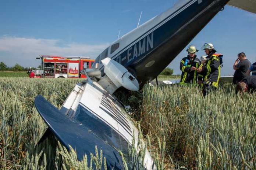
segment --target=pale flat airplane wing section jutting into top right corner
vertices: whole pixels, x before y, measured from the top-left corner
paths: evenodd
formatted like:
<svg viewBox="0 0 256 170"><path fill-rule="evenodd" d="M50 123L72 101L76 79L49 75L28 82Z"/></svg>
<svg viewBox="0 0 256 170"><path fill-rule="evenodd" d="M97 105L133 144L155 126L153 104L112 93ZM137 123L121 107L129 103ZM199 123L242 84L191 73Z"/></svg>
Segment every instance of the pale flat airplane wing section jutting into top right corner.
<svg viewBox="0 0 256 170"><path fill-rule="evenodd" d="M228 5L256 14L256 0L230 0Z"/></svg>

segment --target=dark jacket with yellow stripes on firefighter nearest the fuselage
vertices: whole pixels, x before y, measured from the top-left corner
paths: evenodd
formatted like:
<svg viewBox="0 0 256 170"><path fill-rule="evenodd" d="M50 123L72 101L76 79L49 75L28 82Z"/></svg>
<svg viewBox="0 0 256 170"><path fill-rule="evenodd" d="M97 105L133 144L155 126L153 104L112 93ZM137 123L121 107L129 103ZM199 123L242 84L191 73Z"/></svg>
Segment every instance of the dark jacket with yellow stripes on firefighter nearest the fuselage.
<svg viewBox="0 0 256 170"><path fill-rule="evenodd" d="M189 56L183 58L179 64L179 69L182 71L180 84L196 84L198 82L197 71L191 71L191 67L196 67L198 69L200 64L201 62L198 58L196 58L196 55L193 59L191 59Z"/></svg>

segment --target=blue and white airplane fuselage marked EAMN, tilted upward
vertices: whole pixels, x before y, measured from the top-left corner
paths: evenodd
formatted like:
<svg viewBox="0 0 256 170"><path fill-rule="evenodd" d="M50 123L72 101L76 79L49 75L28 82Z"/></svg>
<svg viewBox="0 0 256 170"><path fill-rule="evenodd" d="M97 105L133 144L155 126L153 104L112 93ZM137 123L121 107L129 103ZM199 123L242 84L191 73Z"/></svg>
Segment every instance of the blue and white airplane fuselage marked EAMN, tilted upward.
<svg viewBox="0 0 256 170"><path fill-rule="evenodd" d="M140 84L153 80L228 1L180 0L114 41L96 58L93 67L98 65L104 74L100 61L109 57L125 66Z"/></svg>

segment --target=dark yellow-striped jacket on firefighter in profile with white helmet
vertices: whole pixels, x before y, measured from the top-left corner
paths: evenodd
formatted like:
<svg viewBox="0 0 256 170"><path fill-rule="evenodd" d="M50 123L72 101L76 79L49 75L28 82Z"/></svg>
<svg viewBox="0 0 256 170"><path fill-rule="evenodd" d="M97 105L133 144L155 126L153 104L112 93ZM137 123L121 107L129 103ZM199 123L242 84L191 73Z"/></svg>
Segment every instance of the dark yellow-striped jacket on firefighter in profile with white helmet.
<svg viewBox="0 0 256 170"><path fill-rule="evenodd" d="M218 82L220 80L220 57L221 54L210 54L207 56L206 65L203 67L203 73L206 74L205 80L211 82L211 86L218 88Z"/></svg>

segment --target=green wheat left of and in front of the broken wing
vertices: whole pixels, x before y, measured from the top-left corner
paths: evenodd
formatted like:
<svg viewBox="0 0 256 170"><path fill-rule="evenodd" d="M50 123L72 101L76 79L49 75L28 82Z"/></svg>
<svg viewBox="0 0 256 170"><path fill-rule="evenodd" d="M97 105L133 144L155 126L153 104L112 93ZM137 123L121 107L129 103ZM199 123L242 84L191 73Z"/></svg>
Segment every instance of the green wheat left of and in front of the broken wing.
<svg viewBox="0 0 256 170"><path fill-rule="evenodd" d="M43 95L54 106L60 107L79 81L82 79L0 78L1 170L91 170L92 167L96 170L106 170L102 151L97 147L95 153L85 155L79 162L74 149L68 152L53 136L37 145L47 126L35 109L33 101L36 95ZM139 155L142 159L145 146L141 143L136 146L141 148ZM149 146L149 148L151 147ZM154 147L154 149L156 148ZM129 156L133 162L129 162L124 156L124 167L132 169L134 166L141 166L135 146L130 149ZM163 149L156 152L157 156L155 157L159 161L164 159L162 152ZM154 153L152 151L152 154ZM158 166L163 169L163 164L159 161Z"/></svg>

